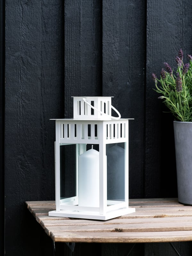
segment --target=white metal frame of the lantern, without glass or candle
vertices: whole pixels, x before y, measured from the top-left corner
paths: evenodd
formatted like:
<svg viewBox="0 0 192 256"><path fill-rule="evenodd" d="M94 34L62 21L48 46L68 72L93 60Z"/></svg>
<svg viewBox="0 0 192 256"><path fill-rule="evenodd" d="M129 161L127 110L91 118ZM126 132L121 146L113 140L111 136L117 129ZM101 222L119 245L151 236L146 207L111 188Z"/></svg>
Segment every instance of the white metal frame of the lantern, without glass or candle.
<svg viewBox="0 0 192 256"><path fill-rule="evenodd" d="M90 98L90 99L89 99ZM129 208L129 119L111 118L111 97L74 97L74 116L55 120L55 199L56 210L49 216L108 220L135 212ZM95 103L95 101L97 101ZM99 102L99 103L98 103ZM88 104L87 104L88 103ZM98 104L97 104L98 103ZM105 103L105 107L103 105ZM90 104L90 106L89 106ZM88 106L88 108L86 107ZM98 107L100 106L100 108ZM91 108L99 111L92 111ZM97 113L96 113L97 112ZM97 119L91 119L94 114ZM88 117L88 118L86 118ZM95 117L94 117L95 118ZM100 118L100 119L98 119ZM106 119L106 120L102 120ZM124 201L107 199L106 145L124 142ZM60 197L60 146L76 145L76 196ZM99 145L99 207L78 205L78 156L86 144Z"/></svg>

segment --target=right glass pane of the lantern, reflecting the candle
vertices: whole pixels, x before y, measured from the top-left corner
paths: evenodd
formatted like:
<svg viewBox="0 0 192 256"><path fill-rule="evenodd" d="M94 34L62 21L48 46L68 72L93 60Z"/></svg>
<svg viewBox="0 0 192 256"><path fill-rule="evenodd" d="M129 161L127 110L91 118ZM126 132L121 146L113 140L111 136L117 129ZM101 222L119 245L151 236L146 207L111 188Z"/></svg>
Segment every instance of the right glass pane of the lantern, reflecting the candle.
<svg viewBox="0 0 192 256"><path fill-rule="evenodd" d="M106 145L107 200L125 201L125 143Z"/></svg>

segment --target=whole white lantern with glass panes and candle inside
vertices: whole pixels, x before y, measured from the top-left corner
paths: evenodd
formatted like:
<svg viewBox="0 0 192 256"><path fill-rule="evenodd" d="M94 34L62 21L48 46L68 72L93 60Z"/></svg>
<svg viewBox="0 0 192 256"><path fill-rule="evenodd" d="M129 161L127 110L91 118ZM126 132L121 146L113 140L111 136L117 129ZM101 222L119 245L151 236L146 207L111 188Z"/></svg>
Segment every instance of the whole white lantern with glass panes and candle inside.
<svg viewBox="0 0 192 256"><path fill-rule="evenodd" d="M73 107L73 119L52 119L56 210L49 216L108 220L135 212L128 205L129 119L111 97L73 97Z"/></svg>

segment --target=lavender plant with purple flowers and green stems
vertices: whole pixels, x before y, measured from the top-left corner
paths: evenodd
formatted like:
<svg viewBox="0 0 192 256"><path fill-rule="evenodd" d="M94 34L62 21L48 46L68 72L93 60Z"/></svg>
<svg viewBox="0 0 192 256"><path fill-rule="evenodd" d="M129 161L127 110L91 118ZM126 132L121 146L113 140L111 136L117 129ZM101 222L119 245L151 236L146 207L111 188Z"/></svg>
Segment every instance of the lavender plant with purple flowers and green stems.
<svg viewBox="0 0 192 256"><path fill-rule="evenodd" d="M192 56L187 55L189 63L183 63L183 52L180 49L175 60L176 73L170 65L164 62L160 79L153 73L156 92L162 94L158 99L164 100L164 104L177 121L192 122ZM160 84L160 85L159 85Z"/></svg>

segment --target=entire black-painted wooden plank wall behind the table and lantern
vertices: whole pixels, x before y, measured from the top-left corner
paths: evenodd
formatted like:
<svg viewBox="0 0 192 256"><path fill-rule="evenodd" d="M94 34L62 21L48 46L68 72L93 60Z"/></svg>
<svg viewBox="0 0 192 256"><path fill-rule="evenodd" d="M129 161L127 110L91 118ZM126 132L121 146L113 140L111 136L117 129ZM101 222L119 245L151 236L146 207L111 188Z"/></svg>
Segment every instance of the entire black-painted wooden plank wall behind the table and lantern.
<svg viewBox="0 0 192 256"><path fill-rule="evenodd" d="M54 200L54 122L71 96L114 96L130 122L130 198L177 197L173 118L151 73L192 54L190 0L1 0L1 255L53 255L25 201ZM5 212L3 211L5 206ZM4 227L4 232L3 232ZM3 242L5 241L5 243ZM5 244L5 246L3 246ZM57 255L70 255L57 244ZM191 255L191 243L175 243ZM132 244L76 244L73 255L128 255ZM132 255L176 255L136 244Z"/></svg>

